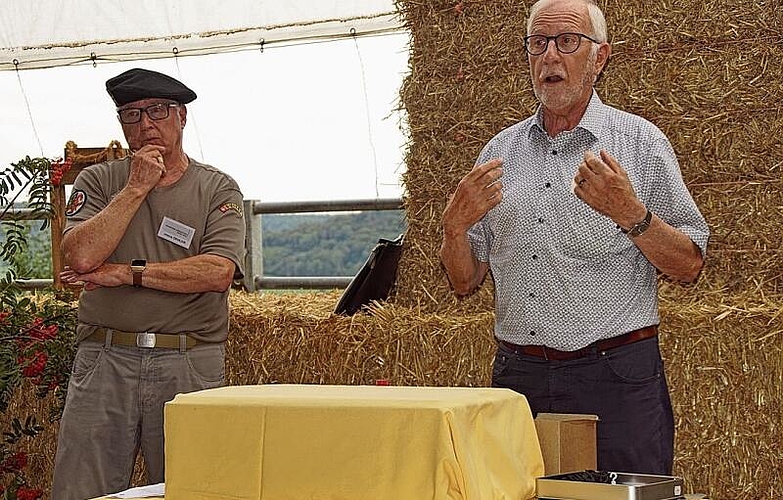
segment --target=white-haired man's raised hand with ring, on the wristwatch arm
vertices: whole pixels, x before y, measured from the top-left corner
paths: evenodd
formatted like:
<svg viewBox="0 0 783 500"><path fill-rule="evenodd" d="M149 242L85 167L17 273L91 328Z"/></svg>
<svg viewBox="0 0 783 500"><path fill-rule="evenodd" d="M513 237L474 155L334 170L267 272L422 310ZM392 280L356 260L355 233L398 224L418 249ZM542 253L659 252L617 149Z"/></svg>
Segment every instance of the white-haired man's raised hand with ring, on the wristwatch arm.
<svg viewBox="0 0 783 500"><path fill-rule="evenodd" d="M625 229L642 220L647 209L636 197L628 173L605 150L585 151L574 177L574 194Z"/></svg>

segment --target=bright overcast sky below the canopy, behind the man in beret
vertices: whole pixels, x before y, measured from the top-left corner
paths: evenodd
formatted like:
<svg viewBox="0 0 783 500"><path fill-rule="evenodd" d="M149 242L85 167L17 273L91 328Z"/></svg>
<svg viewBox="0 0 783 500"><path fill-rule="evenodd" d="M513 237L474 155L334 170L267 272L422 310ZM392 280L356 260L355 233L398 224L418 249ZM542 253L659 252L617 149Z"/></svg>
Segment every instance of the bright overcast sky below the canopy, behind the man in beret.
<svg viewBox="0 0 783 500"><path fill-rule="evenodd" d="M55 158L68 140L125 145L105 81L144 67L198 94L188 105L185 150L233 176L245 199L398 197L405 139L394 110L407 63L408 35L399 33L263 53L0 72L0 161L5 168L26 155Z"/></svg>

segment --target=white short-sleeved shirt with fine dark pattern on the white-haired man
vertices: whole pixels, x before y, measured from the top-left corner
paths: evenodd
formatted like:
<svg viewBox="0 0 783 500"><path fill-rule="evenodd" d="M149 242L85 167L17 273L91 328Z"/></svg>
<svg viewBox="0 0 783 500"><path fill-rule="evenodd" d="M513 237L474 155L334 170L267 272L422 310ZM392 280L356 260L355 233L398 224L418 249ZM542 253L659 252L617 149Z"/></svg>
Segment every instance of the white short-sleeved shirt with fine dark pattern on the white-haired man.
<svg viewBox="0 0 783 500"><path fill-rule="evenodd" d="M655 125L593 92L579 125L551 138L539 108L496 135L477 161L503 159L503 201L468 232L495 280L501 340L570 351L659 323L655 267L571 192L587 149L614 156L647 208L706 252L707 223Z"/></svg>

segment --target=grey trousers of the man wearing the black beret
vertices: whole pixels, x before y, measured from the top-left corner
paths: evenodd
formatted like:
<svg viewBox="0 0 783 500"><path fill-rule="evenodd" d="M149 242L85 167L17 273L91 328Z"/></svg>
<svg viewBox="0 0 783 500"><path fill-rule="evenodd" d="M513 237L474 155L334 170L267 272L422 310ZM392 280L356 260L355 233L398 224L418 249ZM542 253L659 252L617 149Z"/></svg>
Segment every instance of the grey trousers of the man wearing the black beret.
<svg viewBox="0 0 783 500"><path fill-rule="evenodd" d="M51 499L127 489L139 450L149 482L163 482L164 403L222 386L224 378L222 343L180 351L81 342L60 421Z"/></svg>

